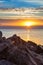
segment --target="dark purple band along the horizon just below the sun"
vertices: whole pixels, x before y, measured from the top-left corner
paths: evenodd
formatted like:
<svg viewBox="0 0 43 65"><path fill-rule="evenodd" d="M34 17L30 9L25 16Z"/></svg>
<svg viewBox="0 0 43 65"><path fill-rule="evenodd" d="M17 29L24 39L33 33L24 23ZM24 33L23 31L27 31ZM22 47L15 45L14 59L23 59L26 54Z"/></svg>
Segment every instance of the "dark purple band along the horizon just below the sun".
<svg viewBox="0 0 43 65"><path fill-rule="evenodd" d="M27 29L27 26L0 26L0 29ZM43 26L31 26L28 29L43 29Z"/></svg>

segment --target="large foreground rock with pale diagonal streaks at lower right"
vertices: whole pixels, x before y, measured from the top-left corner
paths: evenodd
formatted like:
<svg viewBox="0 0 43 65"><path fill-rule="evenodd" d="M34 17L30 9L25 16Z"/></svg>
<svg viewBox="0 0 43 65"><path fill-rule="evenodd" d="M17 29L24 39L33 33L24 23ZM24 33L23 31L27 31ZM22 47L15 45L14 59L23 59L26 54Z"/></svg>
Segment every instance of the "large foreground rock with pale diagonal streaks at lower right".
<svg viewBox="0 0 43 65"><path fill-rule="evenodd" d="M29 50L27 47L25 47L25 50L16 48L10 51L7 60L17 65L43 65L43 56Z"/></svg>

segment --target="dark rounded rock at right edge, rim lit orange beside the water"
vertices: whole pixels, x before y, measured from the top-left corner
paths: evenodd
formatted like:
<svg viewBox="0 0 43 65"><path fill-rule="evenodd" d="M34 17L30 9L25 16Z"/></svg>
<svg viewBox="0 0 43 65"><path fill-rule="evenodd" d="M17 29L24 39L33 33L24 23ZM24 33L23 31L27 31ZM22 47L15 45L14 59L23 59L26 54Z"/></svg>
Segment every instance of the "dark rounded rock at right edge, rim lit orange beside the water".
<svg viewBox="0 0 43 65"><path fill-rule="evenodd" d="M43 53L41 47L32 41L28 41L26 46L37 54Z"/></svg>

